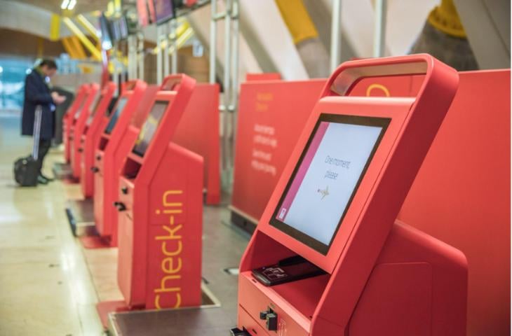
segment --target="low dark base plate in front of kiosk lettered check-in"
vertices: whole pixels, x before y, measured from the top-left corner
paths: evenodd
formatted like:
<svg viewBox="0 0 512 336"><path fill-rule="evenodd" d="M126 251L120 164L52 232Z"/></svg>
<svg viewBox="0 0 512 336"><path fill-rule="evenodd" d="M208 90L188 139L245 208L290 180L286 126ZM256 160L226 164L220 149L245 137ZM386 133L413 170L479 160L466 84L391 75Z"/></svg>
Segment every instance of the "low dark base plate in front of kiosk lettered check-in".
<svg viewBox="0 0 512 336"><path fill-rule="evenodd" d="M200 307L159 310L130 309L124 301L105 301L96 304L96 310L100 315L103 328L109 329L111 335L170 335L170 330L173 332L179 331L180 335L191 335L187 331L198 330L196 325L198 319L204 320L203 322L206 323L216 320L217 317L215 316L223 314L219 309L206 309L218 308L220 302L206 287L205 283L201 284L201 300ZM210 314L208 312L203 313L204 310L215 310L215 312L213 316L209 317ZM137 322L133 323L134 321ZM154 330L155 326L158 330ZM226 330L224 324L222 327L218 330ZM190 329L187 330L186 328ZM151 330L151 332L148 333L148 330ZM159 334L159 331L162 333ZM201 332L205 331L201 329ZM197 335L208 334L198 333Z"/></svg>

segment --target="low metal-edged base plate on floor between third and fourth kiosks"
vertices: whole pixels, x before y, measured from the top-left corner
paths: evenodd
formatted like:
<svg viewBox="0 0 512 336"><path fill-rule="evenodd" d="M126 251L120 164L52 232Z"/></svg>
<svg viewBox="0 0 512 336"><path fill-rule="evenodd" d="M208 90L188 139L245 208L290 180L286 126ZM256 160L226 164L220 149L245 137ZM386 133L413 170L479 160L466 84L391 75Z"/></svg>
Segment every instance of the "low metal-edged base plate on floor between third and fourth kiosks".
<svg viewBox="0 0 512 336"><path fill-rule="evenodd" d="M97 235L94 225L93 200L69 200L66 214L75 237Z"/></svg>

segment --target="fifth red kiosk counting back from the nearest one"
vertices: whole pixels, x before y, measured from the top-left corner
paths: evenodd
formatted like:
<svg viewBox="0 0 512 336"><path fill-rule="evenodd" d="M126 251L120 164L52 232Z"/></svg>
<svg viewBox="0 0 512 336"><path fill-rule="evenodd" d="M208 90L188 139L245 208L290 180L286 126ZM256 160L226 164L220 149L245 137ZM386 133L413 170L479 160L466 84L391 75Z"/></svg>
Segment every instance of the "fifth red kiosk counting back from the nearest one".
<svg viewBox="0 0 512 336"><path fill-rule="evenodd" d="M80 162L82 157L83 148L81 146L81 140L83 130L86 128L86 121L91 113L91 107L95 105L97 101L98 91L100 85L93 83L90 84L86 99L83 100L83 104L79 111L76 111L74 116L74 124L71 127L71 168L74 179L80 178Z"/></svg>

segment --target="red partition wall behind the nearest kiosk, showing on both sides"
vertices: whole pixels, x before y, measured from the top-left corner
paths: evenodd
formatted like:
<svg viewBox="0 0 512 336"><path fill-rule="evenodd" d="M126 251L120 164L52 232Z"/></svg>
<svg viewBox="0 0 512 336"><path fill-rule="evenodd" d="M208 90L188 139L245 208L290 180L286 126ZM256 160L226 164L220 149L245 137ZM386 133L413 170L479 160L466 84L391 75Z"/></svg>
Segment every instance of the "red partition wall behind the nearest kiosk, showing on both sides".
<svg viewBox="0 0 512 336"><path fill-rule="evenodd" d="M454 102L398 218L458 248L468 258L468 335L508 335L511 330L510 70L469 71L459 76ZM351 94L412 96L419 90L421 80L421 76L365 78ZM303 92L295 97L293 85L293 82L242 85L238 129L245 130L245 134L237 133L232 204L252 218L260 218L277 178L250 168L250 155L245 154L250 153L253 145L247 130L259 120L269 120L269 125L279 127L271 118L261 118L280 113L284 116L290 110L269 104L268 113L257 113L256 105L247 102L255 102L256 95L267 88L277 90L274 87L280 90L276 99L288 100L289 104L294 104L295 99L312 101L318 96L315 82L310 84L309 96ZM301 127L278 130L286 132L283 137L292 137ZM272 160L287 160L293 146L290 142L280 141L276 151L281 155L273 155ZM281 166L277 170L278 176L282 169Z"/></svg>

